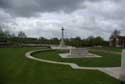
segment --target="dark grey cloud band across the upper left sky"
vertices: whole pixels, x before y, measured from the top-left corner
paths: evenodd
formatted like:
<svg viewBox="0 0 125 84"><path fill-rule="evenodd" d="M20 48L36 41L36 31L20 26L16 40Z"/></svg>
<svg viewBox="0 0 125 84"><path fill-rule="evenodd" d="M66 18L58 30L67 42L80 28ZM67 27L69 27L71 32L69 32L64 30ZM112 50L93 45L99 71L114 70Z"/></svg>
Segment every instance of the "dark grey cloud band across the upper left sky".
<svg viewBox="0 0 125 84"><path fill-rule="evenodd" d="M72 11L83 0L0 0L0 7L12 15L30 16L36 12Z"/></svg>

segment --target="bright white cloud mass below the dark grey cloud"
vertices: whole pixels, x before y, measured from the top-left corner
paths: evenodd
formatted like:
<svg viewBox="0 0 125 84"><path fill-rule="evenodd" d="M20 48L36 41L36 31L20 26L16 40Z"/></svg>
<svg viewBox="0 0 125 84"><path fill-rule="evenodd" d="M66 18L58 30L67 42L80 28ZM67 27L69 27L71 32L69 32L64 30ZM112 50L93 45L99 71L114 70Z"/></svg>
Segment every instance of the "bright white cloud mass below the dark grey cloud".
<svg viewBox="0 0 125 84"><path fill-rule="evenodd" d="M115 0L96 2L88 0L81 3L79 9L70 13L60 10L58 12L39 12L37 16L32 17L11 17L0 11L0 15L5 16L2 18L11 18L12 21L5 24L12 32L24 31L32 37L60 37L60 29L64 26L65 37L86 38L90 35L100 35L108 39L114 29L125 30L123 4L125 3ZM123 18L120 19L121 17ZM125 32L122 31L123 33Z"/></svg>

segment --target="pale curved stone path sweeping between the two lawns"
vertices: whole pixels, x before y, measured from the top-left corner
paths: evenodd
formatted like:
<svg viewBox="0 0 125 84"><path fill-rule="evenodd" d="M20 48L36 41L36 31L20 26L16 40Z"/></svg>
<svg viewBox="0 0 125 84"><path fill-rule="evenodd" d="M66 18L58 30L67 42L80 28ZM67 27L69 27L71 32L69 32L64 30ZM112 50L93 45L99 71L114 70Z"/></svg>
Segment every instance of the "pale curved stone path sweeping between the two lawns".
<svg viewBox="0 0 125 84"><path fill-rule="evenodd" d="M104 72L116 79L119 79L119 73L116 73L116 71L120 71L120 67L81 67L75 63L69 63L69 62L57 62L57 61L52 61L52 60L45 60L45 59L41 59L41 58L36 58L33 57L32 55L38 52L44 52L44 51L52 51L51 49L48 50L33 50L33 51L29 51L25 54L25 56L28 59L32 59L32 60L36 60L39 62L45 62L45 63L51 63L51 64L60 64L60 65L68 65L70 66L72 69L84 69L84 70L99 70L101 72Z"/></svg>

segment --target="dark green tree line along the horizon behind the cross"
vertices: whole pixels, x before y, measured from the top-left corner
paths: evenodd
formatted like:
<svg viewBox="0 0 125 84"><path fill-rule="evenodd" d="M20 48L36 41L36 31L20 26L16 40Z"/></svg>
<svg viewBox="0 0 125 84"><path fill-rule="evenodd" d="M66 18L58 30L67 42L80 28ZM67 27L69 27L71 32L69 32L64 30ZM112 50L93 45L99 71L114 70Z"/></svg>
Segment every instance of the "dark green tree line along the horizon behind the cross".
<svg viewBox="0 0 125 84"><path fill-rule="evenodd" d="M47 39L45 37L39 38L30 38L27 35L20 31L18 35L10 33L9 31L3 31L0 28L0 44L8 45L8 46L20 46L21 44L50 44L50 45L58 45L60 43L60 39L51 38ZM90 36L86 39L81 39L80 37L75 38L66 38L65 44L76 47L84 47L84 46L108 46L108 41L105 41L102 37Z"/></svg>

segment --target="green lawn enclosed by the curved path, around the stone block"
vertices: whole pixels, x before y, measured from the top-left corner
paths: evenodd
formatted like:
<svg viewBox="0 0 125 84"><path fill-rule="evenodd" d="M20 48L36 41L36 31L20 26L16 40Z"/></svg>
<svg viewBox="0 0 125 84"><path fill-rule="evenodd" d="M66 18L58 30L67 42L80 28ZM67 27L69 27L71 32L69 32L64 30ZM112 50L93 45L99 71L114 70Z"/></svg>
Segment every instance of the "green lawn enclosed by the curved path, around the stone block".
<svg viewBox="0 0 125 84"><path fill-rule="evenodd" d="M38 58L49 59L61 62L72 62L80 66L86 67L119 67L121 65L120 49L110 48L98 48L91 49L90 52L102 56L101 58L61 58L58 56L63 51L49 51L44 53L38 53L35 56ZM115 52L115 53L114 53ZM119 52L118 54L116 52Z"/></svg>

